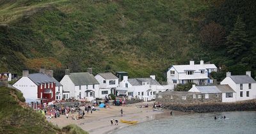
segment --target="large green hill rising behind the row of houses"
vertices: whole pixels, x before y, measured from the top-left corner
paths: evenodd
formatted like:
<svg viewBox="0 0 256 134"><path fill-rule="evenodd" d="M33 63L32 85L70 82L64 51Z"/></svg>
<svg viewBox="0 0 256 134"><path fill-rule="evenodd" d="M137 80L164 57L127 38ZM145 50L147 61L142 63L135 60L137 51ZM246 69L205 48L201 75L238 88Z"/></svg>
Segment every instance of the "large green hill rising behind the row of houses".
<svg viewBox="0 0 256 134"><path fill-rule="evenodd" d="M228 18L229 22L222 19L233 9L243 12L244 7L253 4L228 0L0 1L0 71L21 73L23 69L37 71L44 66L54 70L60 79L67 66L73 72L93 67L93 73L128 71L129 77L154 73L161 81L171 64L203 59L244 73L255 69L255 60L243 59L246 55L237 60L228 57L225 41L221 42L222 48L209 48L200 32L211 21L234 27L236 18ZM237 13L233 14L236 17ZM239 14L249 19L246 25L256 26L252 21L255 12ZM253 29L247 29L250 37L255 36ZM225 29L225 33L231 30ZM250 54L253 57L256 53ZM237 70L241 66L246 68Z"/></svg>

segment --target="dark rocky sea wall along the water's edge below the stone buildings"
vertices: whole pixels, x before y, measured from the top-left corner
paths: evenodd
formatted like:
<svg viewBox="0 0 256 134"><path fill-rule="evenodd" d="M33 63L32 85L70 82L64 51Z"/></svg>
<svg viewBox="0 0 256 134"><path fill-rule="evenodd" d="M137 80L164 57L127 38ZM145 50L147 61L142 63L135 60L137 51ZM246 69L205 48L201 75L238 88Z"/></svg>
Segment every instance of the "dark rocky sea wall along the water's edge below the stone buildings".
<svg viewBox="0 0 256 134"><path fill-rule="evenodd" d="M182 112L226 112L256 110L256 100L239 101L234 103L196 103L196 104L164 104L164 108Z"/></svg>

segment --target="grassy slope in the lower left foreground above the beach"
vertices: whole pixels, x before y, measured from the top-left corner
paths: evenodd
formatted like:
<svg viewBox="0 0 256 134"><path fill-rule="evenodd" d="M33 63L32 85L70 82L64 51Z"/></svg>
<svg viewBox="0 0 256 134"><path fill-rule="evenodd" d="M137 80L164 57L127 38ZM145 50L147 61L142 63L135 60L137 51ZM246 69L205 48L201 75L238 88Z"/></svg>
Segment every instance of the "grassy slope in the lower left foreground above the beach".
<svg viewBox="0 0 256 134"><path fill-rule="evenodd" d="M60 128L48 123L45 117L26 107L22 93L0 87L0 133L85 133L75 125Z"/></svg>

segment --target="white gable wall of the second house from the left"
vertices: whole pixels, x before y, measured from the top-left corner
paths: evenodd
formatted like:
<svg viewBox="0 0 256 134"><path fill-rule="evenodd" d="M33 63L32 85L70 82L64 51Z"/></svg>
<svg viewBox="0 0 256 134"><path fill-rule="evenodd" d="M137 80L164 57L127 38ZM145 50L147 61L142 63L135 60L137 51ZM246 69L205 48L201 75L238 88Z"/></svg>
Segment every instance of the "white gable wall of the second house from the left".
<svg viewBox="0 0 256 134"><path fill-rule="evenodd" d="M75 85L68 75L65 75L60 84L63 85L63 91L69 91L69 98L75 97Z"/></svg>

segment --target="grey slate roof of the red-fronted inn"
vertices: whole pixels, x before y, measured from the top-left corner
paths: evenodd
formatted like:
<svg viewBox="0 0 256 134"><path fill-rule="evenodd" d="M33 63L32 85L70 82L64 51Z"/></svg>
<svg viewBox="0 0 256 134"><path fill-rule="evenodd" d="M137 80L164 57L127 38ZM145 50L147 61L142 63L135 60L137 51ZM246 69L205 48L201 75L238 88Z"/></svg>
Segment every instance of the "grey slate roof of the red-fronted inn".
<svg viewBox="0 0 256 134"><path fill-rule="evenodd" d="M44 83L54 82L52 77L49 77L44 73L31 73L28 75L28 78L32 80L37 86L40 86L40 84Z"/></svg>

